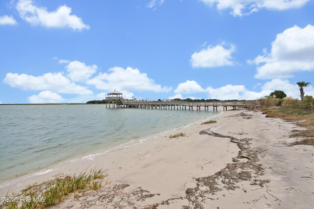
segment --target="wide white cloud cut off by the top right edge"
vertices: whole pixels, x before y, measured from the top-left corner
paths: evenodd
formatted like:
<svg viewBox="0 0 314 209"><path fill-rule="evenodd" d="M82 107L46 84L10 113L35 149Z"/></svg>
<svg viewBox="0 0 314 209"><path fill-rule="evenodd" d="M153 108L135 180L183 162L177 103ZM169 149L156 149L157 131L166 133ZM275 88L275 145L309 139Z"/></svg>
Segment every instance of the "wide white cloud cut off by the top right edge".
<svg viewBox="0 0 314 209"><path fill-rule="evenodd" d="M233 16L248 15L259 9L287 10L300 8L310 0L202 0L209 6L216 5L218 10L232 9Z"/></svg>

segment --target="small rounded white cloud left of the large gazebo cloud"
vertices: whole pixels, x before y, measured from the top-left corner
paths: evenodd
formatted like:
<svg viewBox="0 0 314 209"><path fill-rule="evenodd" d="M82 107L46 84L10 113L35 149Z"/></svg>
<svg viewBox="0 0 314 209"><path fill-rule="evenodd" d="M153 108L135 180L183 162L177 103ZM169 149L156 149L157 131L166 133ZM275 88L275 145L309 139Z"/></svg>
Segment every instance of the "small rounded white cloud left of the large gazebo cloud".
<svg viewBox="0 0 314 209"><path fill-rule="evenodd" d="M85 81L96 72L97 66L86 66L85 63L75 60L70 62L65 69L69 72L67 76L73 81Z"/></svg>

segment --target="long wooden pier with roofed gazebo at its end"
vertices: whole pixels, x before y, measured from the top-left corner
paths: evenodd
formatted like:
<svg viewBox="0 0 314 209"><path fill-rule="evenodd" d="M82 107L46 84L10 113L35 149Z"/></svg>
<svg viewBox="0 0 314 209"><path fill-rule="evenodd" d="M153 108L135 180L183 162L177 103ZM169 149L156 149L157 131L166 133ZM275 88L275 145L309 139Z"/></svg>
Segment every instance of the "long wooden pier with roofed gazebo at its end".
<svg viewBox="0 0 314 209"><path fill-rule="evenodd" d="M241 108L254 108L254 101L219 101L219 102L186 102L186 101L130 101L125 100L122 97L122 93L111 92L108 93L108 97L105 97L105 104L112 106L113 108L141 108L141 109L171 109L171 110L195 110L201 111L201 108L205 111L209 111L209 108L213 108L213 111L217 111L218 107L223 107L223 110L232 108L235 110L238 107ZM112 105L110 105L112 104Z"/></svg>

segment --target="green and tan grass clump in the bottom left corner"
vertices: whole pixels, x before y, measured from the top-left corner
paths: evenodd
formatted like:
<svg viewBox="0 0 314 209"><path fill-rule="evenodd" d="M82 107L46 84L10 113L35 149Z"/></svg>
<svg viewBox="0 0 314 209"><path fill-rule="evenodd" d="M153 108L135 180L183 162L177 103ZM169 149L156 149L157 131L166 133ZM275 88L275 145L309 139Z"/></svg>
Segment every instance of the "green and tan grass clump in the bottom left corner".
<svg viewBox="0 0 314 209"><path fill-rule="evenodd" d="M87 169L79 174L56 177L54 180L41 184L26 186L19 194L12 197L23 197L28 201L11 201L3 203L0 208L7 209L45 209L61 203L70 194L74 197L83 196L88 190L97 190L107 176L103 169ZM110 183L110 182L109 182ZM106 181L105 184L108 184ZM6 195L9 197L8 195Z"/></svg>

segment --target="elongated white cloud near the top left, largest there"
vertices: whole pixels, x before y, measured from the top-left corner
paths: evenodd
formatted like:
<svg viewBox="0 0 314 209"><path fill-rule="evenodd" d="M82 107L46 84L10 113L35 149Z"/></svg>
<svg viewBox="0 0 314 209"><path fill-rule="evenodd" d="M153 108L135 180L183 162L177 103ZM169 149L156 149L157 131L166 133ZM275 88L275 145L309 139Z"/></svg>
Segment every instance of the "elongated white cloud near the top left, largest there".
<svg viewBox="0 0 314 209"><path fill-rule="evenodd" d="M68 27L78 31L90 28L80 18L71 15L72 9L66 5L60 5L55 11L50 12L45 7L34 5L32 0L19 0L16 9L22 19L33 25L55 28Z"/></svg>

